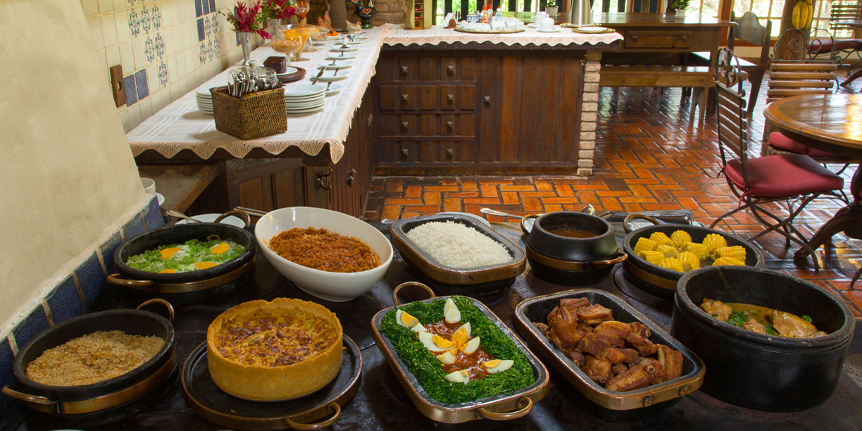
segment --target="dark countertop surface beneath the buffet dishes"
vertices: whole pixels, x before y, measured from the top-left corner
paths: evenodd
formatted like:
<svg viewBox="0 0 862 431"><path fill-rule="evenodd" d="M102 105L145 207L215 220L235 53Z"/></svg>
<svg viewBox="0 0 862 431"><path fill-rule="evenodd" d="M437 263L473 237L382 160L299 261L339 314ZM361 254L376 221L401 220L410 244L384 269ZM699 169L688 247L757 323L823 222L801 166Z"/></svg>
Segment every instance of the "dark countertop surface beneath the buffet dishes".
<svg viewBox="0 0 862 431"><path fill-rule="evenodd" d="M388 228L384 225L378 227L381 230ZM519 232L516 232L512 225L496 224L495 228L513 240L519 237ZM851 377L851 375L860 375L859 369L862 363L862 337L859 337L859 328L857 328L855 331L857 336L854 337L846 360L845 372L842 373L833 397L827 403L804 412L769 413L743 409L696 391L683 397L671 407L653 414L628 421L606 422L590 413L590 406L592 406L590 401L581 396L578 390L575 390L559 373L551 370L551 384L547 397L540 403L536 403L533 411L522 419L512 422L481 420L459 425L432 422L409 401L407 393L398 383L395 374L391 372L383 355L373 345L370 322L378 309L392 305L392 287L405 281L421 279L403 262L397 251L384 279L375 285L369 294L349 303L327 303L310 297L275 272L261 253L258 254L257 259L253 283L248 284L245 289L240 288L230 296L213 302L177 307L174 327L177 332L177 354L180 366L189 353L206 340L209 322L223 310L237 303L274 297L298 297L323 303L339 316L345 334L359 345L363 359L359 392L342 408L340 420L334 424L334 429L844 430L859 429L860 418L862 418L862 389ZM669 303L656 303L654 298L650 300L648 297L643 297L643 294L639 295L636 291L630 290L622 280L622 274L618 273L619 271L621 270L617 268L613 275L605 278L602 283L589 287L606 290L617 297L622 297L654 323L668 329L671 322ZM522 300L569 289L572 288L549 284L536 278L528 268L527 272L515 280L514 286L507 293L501 297L483 299L483 303L488 305L503 322L511 326L515 306ZM631 292L631 295L627 292ZM405 292L403 299L422 299L418 294L417 297L409 297L410 293ZM641 302L632 295L652 304ZM104 308L134 308L135 305L136 303L123 298L112 297ZM28 419L16 429L41 431L55 428L63 427L46 427ZM216 431L224 428L197 415L185 403L181 385L174 380L166 395L149 409L122 422L87 429L93 431L116 429Z"/></svg>

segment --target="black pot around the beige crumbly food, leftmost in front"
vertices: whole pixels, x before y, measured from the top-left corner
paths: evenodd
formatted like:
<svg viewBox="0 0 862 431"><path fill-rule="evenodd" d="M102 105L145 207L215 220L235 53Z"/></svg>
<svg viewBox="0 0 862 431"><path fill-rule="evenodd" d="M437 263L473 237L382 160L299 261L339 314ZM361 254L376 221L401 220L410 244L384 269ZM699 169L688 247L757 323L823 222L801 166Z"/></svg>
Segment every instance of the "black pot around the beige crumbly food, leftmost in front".
<svg viewBox="0 0 862 431"><path fill-rule="evenodd" d="M169 317L173 317L170 303L153 299L166 305ZM141 304L141 307L150 302ZM141 308L139 307L139 308ZM53 386L37 383L27 377L28 365L46 350L69 340L97 331L119 330L125 334L155 335L165 344L153 358L134 370L109 378L96 384L76 386ZM166 383L177 365L176 340L171 322L161 315L141 309L115 309L100 311L62 322L43 331L28 341L15 356L12 373L17 388L3 387L3 394L21 400L29 408L42 414L76 418L99 415L100 412L134 403L141 397ZM114 420L122 417L111 416Z"/></svg>

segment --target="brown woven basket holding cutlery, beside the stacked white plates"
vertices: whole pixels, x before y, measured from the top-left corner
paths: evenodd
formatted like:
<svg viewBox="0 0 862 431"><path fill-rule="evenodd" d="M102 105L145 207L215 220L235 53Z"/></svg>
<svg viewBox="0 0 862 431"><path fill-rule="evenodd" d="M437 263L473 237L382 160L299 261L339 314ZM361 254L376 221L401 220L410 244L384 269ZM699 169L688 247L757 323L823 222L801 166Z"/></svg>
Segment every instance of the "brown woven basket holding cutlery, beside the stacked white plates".
<svg viewBox="0 0 862 431"><path fill-rule="evenodd" d="M284 87L240 97L230 96L227 86L209 92L213 95L215 128L226 134L247 141L287 130Z"/></svg>

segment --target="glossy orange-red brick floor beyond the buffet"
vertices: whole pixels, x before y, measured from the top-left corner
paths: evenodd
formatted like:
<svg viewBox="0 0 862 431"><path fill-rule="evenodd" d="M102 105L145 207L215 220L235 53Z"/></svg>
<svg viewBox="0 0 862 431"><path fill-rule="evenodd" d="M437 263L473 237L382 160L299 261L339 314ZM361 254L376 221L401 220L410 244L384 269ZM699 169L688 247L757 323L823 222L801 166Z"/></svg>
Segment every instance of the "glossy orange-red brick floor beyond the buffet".
<svg viewBox="0 0 862 431"><path fill-rule="evenodd" d="M750 153L760 152L764 127L765 87L751 126ZM840 92L859 92L862 80ZM488 207L516 215L560 210L579 210L591 204L598 211L651 211L690 209L698 221L709 224L733 209L720 170L715 116L703 128L688 122L690 103L681 101L679 89L602 89L599 98L596 141L597 166L589 178L578 177L380 177L372 180L365 220L398 219L440 211L465 211L481 215ZM837 170L837 166L830 166ZM843 175L849 194L853 169ZM810 235L842 205L821 199L810 203L796 218L796 227ZM490 222L505 220L482 215ZM728 218L734 232L747 238L761 228L751 215ZM721 227L727 229L727 227ZM826 287L844 298L854 315L862 318L860 291L848 290L850 278L862 265L862 240L836 234L832 244L817 250L821 272L810 263L792 258L796 247L786 247L784 237L766 234L755 241L766 257L766 267L788 272Z"/></svg>

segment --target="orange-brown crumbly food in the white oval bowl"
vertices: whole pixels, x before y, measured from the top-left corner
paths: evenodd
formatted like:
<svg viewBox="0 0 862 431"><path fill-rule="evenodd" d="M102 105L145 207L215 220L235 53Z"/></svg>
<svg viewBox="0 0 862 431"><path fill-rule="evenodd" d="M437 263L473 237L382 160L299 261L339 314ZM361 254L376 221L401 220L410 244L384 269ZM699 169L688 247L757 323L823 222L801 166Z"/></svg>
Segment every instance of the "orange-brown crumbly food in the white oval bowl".
<svg viewBox="0 0 862 431"><path fill-rule="evenodd" d="M284 259L321 271L362 272L380 266L378 254L364 242L323 228L285 230L268 246Z"/></svg>

